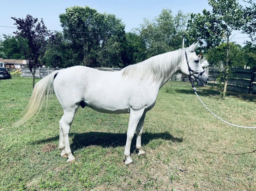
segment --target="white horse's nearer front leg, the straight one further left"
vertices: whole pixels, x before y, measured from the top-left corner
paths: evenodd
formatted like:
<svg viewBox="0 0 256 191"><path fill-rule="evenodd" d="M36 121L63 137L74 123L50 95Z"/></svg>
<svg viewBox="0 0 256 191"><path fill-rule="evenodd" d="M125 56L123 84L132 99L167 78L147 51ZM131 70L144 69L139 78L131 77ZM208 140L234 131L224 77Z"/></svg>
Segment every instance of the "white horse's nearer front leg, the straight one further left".
<svg viewBox="0 0 256 191"><path fill-rule="evenodd" d="M125 144L125 149L124 149L124 161L125 165L131 164L133 160L131 159L130 156L130 149L131 149L131 142L132 138L134 136L136 127L139 123L140 118L142 117L144 112L144 109L134 111L130 110L130 119L129 119L129 124L128 124L128 130L127 130L127 139L126 139L126 144Z"/></svg>

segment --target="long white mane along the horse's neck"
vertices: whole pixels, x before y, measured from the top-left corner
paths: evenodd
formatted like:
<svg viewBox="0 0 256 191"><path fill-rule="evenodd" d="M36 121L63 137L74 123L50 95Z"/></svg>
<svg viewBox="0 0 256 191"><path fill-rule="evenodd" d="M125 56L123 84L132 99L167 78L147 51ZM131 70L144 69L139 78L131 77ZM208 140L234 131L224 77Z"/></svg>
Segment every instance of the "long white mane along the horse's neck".
<svg viewBox="0 0 256 191"><path fill-rule="evenodd" d="M139 78L140 80L152 77L153 81L163 80L177 71L184 55L182 49L153 56L143 62L129 65L122 71L124 78Z"/></svg>

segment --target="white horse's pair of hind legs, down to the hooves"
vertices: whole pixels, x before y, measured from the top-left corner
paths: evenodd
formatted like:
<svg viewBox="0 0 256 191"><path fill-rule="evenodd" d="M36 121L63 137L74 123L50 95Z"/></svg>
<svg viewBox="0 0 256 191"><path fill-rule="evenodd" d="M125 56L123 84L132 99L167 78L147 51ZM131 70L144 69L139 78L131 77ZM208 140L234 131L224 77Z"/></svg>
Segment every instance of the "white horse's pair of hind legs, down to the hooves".
<svg viewBox="0 0 256 191"><path fill-rule="evenodd" d="M74 119L75 113L76 110L64 110L64 114L59 121L59 150L61 151L60 155L62 157L68 156L68 162L75 160L75 157L71 152L69 143L70 126Z"/></svg>

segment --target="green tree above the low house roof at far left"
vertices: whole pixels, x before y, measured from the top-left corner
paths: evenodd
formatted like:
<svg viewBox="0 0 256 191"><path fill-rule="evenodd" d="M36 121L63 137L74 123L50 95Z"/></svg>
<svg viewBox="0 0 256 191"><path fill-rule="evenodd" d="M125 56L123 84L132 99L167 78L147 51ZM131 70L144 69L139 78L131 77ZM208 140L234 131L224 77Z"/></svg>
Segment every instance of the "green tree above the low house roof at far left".
<svg viewBox="0 0 256 191"><path fill-rule="evenodd" d="M27 46L25 39L15 38L14 36L5 34L3 34L3 38L4 40L1 42L0 51L4 53L5 59L25 59L23 54L23 47Z"/></svg>

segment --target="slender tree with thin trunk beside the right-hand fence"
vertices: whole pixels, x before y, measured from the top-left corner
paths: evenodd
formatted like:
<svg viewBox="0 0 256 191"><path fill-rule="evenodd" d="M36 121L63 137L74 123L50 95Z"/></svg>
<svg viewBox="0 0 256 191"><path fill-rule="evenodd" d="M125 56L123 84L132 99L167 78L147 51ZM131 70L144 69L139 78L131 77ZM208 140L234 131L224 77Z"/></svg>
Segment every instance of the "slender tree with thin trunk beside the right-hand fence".
<svg viewBox="0 0 256 191"><path fill-rule="evenodd" d="M190 34L190 39L203 39L207 48L215 48L222 39L227 42L226 57L223 60L224 69L220 73L221 81L218 82L221 87L224 84L220 94L220 98L224 99L230 76L230 36L234 30L242 29L246 19L244 18L244 9L237 0L208 0L208 2L213 10L211 12L204 10L203 15L192 14L188 21L187 32ZM203 41L200 43L202 45Z"/></svg>

